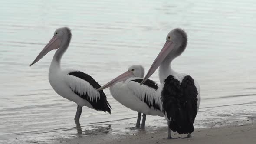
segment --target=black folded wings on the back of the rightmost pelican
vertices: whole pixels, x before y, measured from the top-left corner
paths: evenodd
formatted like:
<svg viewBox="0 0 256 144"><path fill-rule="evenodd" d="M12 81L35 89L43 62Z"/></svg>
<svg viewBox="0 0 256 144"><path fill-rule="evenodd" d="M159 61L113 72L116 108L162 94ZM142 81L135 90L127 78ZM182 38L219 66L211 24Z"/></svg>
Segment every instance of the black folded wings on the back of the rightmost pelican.
<svg viewBox="0 0 256 144"><path fill-rule="evenodd" d="M170 129L179 134L192 133L197 115L197 88L194 79L185 76L180 83L170 75L164 80L161 92L163 109L167 118L171 119Z"/></svg>

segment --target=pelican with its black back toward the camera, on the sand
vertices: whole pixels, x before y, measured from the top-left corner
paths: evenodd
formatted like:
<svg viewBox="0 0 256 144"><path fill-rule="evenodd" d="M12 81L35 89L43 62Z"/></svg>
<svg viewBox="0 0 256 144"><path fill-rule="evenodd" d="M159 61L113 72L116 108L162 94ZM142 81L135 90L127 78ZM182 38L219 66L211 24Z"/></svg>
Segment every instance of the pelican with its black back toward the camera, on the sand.
<svg viewBox="0 0 256 144"><path fill-rule="evenodd" d="M184 52L187 46L187 34L176 28L166 37L163 49L154 60L151 68L144 77L145 82L159 67L160 86L157 96L161 97L165 119L168 121L168 137L172 139L171 131L188 134L194 131L194 120L200 104L200 87L187 74L175 72L171 69L171 62Z"/></svg>

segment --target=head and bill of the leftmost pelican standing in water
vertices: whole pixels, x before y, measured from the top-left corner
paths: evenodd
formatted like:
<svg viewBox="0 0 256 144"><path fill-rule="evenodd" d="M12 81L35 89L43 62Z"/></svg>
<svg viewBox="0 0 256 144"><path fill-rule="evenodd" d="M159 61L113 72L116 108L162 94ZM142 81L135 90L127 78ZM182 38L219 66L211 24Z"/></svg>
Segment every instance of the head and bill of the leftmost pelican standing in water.
<svg viewBox="0 0 256 144"><path fill-rule="evenodd" d="M36 59L30 64L32 66L43 58L48 52L54 49L67 48L71 39L71 31L67 27L56 29L53 33L53 38L46 44L43 50L39 53Z"/></svg>

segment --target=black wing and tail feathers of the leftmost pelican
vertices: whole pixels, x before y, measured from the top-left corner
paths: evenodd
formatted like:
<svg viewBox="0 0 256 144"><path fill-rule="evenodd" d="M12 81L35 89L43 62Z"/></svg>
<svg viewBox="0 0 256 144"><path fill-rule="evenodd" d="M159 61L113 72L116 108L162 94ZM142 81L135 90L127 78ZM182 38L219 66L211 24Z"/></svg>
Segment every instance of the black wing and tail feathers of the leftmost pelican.
<svg viewBox="0 0 256 144"><path fill-rule="evenodd" d="M95 89L98 89L101 87L98 84L98 82L96 82L90 75L85 74L83 72L80 72L80 71L69 72L69 75L73 75L75 77L85 80L86 82L89 82L89 84L92 85L92 87ZM100 111L104 111L104 112L107 111L109 114L111 113L110 112L111 106L109 105L109 103L107 101L107 97L106 97L105 93L103 92L103 90L99 91L100 99L98 99L97 101L95 99L90 100L89 94L87 94L87 93L79 94L76 90L74 90L74 92L76 95L79 95L81 98L88 101L92 105L92 107L95 108L96 110L100 110Z"/></svg>

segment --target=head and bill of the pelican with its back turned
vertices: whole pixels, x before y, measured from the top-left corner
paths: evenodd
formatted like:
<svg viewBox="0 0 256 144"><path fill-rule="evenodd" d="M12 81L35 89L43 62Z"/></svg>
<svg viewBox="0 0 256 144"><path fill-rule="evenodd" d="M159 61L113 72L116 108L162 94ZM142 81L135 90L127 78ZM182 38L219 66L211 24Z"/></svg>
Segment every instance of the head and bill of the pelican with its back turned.
<svg viewBox="0 0 256 144"><path fill-rule="evenodd" d="M141 85L158 69L162 62L171 62L177 56L180 56L187 46L187 33L180 28L171 30L166 36L164 47L159 52L157 58L151 65L148 73L141 82Z"/></svg>

